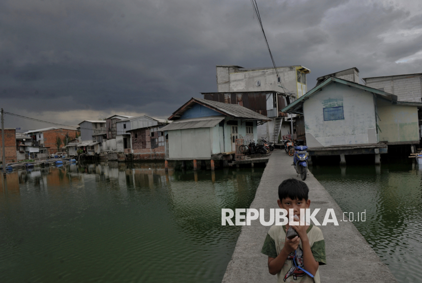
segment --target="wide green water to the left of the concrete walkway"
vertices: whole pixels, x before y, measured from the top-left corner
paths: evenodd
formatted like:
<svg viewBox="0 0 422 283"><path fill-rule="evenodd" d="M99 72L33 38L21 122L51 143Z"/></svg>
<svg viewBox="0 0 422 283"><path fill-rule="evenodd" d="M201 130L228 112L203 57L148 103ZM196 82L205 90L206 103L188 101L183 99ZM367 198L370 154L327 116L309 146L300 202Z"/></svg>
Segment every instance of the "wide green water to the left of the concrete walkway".
<svg viewBox="0 0 422 283"><path fill-rule="evenodd" d="M263 168L166 174L164 163L8 174L0 184L0 281L219 282Z"/></svg>

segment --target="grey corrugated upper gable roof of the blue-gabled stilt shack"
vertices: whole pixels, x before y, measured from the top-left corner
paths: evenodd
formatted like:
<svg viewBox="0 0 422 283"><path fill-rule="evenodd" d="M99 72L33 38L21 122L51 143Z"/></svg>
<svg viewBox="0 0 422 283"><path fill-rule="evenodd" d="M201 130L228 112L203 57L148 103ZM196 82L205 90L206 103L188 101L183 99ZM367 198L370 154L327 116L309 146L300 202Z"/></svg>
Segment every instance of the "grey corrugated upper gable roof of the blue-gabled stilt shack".
<svg viewBox="0 0 422 283"><path fill-rule="evenodd" d="M191 105L194 103L198 103L210 109L216 110L223 115L229 116L231 118L239 118L245 120L261 120L261 121L271 121L266 116L258 114L254 110L248 109L244 106L238 104L227 104L223 102L217 102L212 100L206 100L201 98L194 98L192 97L187 103L185 103L182 107L178 108L176 111L173 112L168 120L177 120L178 116L182 116L183 113L191 108Z"/></svg>

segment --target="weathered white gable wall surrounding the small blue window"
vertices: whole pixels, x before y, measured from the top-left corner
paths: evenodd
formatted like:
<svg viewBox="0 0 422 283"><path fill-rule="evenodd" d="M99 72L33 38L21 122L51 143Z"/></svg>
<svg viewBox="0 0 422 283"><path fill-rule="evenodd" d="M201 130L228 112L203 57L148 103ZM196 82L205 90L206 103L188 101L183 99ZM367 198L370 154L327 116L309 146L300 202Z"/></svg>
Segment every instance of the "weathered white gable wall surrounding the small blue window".
<svg viewBox="0 0 422 283"><path fill-rule="evenodd" d="M344 119L324 121L323 108L343 106ZM372 94L331 83L304 102L308 147L377 143Z"/></svg>

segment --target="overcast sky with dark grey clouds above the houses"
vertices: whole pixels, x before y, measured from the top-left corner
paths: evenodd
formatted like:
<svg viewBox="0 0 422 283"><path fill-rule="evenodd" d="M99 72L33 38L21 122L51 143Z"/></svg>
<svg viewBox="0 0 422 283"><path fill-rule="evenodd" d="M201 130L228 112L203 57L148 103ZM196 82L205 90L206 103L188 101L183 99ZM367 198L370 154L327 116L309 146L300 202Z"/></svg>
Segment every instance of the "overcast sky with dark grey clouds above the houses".
<svg viewBox="0 0 422 283"><path fill-rule="evenodd" d="M422 72L422 1L257 0L278 66L316 78ZM168 118L216 92L216 65L271 66L249 0L2 0L0 106L76 125ZM5 116L6 127L48 124Z"/></svg>

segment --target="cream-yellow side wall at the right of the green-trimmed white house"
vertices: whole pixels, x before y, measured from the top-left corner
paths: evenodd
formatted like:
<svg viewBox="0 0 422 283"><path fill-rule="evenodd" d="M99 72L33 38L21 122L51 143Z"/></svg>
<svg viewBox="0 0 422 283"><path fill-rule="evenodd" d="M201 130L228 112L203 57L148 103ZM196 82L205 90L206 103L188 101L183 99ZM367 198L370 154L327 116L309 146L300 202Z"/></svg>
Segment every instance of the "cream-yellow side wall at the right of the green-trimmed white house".
<svg viewBox="0 0 422 283"><path fill-rule="evenodd" d="M416 106L391 104L377 99L379 141L397 143L399 141L419 140L419 125Z"/></svg>

